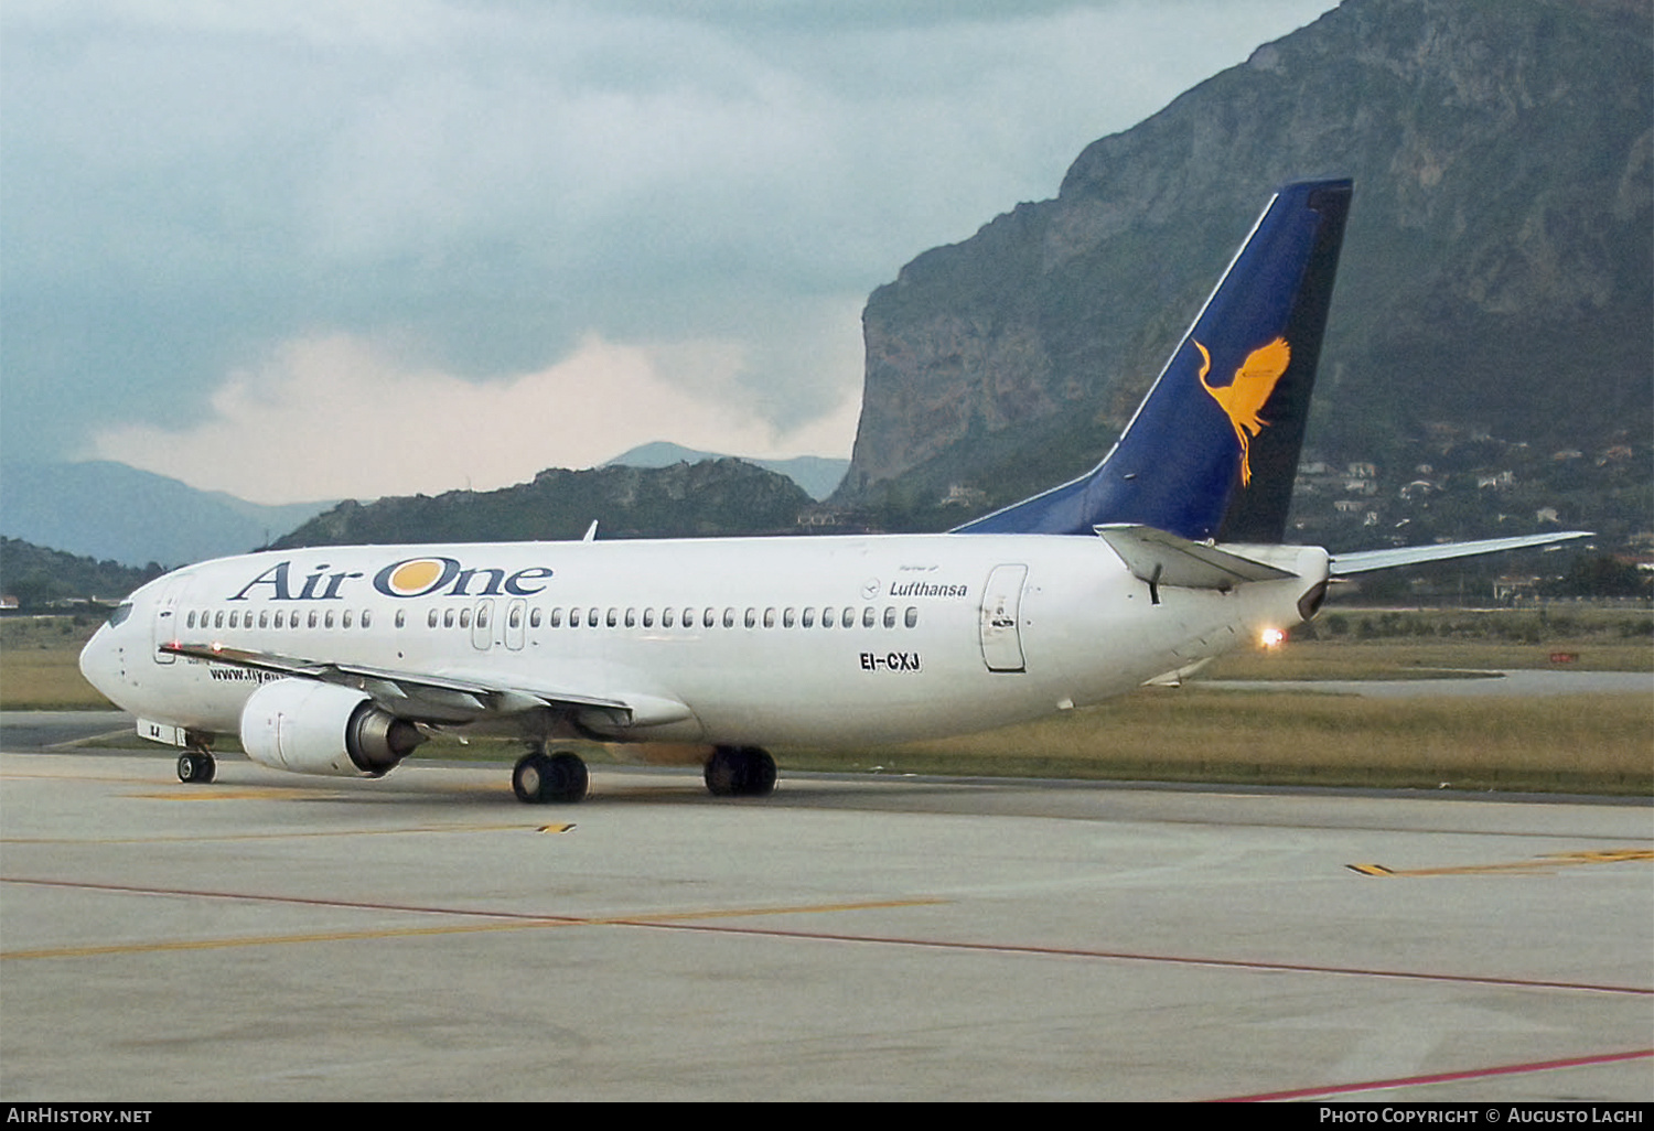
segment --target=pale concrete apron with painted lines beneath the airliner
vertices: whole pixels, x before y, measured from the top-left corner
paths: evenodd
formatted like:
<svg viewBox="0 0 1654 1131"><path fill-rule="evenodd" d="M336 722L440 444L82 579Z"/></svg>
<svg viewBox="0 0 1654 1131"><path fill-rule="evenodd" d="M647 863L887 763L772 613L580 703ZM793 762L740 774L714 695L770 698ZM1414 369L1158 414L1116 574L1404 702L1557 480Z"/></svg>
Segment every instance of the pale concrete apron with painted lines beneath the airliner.
<svg viewBox="0 0 1654 1131"><path fill-rule="evenodd" d="M1649 1101L1651 875L1639 802L5 754L0 1096Z"/></svg>

